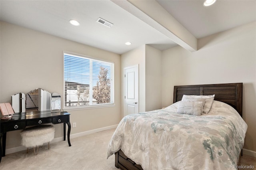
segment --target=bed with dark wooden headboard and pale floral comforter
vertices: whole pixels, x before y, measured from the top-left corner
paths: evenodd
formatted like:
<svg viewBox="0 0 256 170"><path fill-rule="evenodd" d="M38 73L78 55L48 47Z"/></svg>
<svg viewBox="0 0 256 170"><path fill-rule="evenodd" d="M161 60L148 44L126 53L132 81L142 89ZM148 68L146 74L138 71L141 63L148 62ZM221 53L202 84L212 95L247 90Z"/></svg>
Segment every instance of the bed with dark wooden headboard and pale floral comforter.
<svg viewBox="0 0 256 170"><path fill-rule="evenodd" d="M184 103L204 105L183 101L190 95L215 95L209 113L202 113L202 107L197 107L197 116L177 113ZM108 157L115 154L116 168L212 170L237 165L247 130L242 83L174 86L173 97L173 104L164 109L120 121L107 149Z"/></svg>

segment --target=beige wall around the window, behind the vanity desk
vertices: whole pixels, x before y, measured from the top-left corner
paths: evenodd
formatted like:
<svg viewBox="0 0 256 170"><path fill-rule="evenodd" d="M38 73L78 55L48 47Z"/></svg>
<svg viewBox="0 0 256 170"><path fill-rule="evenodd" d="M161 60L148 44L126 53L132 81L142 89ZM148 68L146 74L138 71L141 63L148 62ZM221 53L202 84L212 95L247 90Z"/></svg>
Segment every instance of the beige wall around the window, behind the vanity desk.
<svg viewBox="0 0 256 170"><path fill-rule="evenodd" d="M100 109L70 110L76 122L71 134L116 125L121 119L120 55L72 42L42 32L1 22L0 102L11 102L11 95L42 88L63 95L63 51L88 55L115 64L115 106ZM63 106L63 104L62 104ZM63 126L54 125L55 138L63 136ZM6 148L20 146L20 131L7 134Z"/></svg>

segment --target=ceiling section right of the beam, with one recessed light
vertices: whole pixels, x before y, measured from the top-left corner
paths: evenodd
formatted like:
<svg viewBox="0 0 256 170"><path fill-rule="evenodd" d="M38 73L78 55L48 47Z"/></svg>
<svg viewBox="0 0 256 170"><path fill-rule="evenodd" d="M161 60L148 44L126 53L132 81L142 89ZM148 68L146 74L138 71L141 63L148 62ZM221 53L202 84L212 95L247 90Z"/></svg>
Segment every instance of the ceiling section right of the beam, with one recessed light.
<svg viewBox="0 0 256 170"><path fill-rule="evenodd" d="M256 0L217 0L208 7L204 7L201 0L157 2L196 38L256 21Z"/></svg>

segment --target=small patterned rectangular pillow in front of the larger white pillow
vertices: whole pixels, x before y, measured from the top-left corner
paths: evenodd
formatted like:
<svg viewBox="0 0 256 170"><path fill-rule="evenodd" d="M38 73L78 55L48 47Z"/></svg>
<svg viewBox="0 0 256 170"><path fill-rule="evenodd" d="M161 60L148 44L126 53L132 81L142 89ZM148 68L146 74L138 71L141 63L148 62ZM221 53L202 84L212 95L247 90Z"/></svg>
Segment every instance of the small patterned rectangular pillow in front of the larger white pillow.
<svg viewBox="0 0 256 170"><path fill-rule="evenodd" d="M181 101L177 113L200 116L203 107L202 101Z"/></svg>

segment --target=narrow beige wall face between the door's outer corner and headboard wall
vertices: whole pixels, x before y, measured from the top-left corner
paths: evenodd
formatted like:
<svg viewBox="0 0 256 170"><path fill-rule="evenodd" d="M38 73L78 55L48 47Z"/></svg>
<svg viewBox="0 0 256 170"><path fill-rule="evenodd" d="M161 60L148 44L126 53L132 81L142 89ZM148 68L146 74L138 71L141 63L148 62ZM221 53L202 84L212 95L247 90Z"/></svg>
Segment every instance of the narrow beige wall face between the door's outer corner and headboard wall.
<svg viewBox="0 0 256 170"><path fill-rule="evenodd" d="M162 52L146 45L146 111L162 106Z"/></svg>

